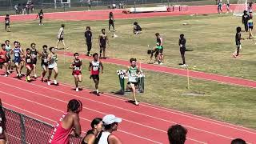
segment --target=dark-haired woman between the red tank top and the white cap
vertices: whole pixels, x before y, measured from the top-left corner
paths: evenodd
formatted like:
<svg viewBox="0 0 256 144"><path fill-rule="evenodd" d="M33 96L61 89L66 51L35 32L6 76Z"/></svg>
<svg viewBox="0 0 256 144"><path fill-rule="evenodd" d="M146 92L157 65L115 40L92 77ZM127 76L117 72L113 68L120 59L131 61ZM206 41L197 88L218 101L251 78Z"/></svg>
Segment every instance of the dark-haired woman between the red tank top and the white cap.
<svg viewBox="0 0 256 144"><path fill-rule="evenodd" d="M81 144L96 144L98 143L98 136L102 134L102 118L94 118L94 120L90 123L91 130L88 130L86 133L86 137L83 138Z"/></svg>

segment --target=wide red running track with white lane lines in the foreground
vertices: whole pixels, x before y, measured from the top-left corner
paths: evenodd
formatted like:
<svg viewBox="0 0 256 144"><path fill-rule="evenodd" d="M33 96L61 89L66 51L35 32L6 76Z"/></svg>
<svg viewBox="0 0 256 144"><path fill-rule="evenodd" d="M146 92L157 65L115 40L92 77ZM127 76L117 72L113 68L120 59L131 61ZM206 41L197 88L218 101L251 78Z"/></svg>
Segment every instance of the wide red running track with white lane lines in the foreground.
<svg viewBox="0 0 256 144"><path fill-rule="evenodd" d="M62 83L60 86L48 86L45 82L28 83L12 76L0 77L0 95L4 106L52 125L66 110L66 102L71 98L78 98L83 103L80 114L82 131L90 129L93 118L115 114L123 118L115 133L123 143L168 143L166 130L176 123L188 129L186 143L230 143L233 138L256 142L256 130L242 126L146 103L134 106L126 102L125 98L111 94L101 94L98 97L85 89L76 92L73 86Z"/></svg>

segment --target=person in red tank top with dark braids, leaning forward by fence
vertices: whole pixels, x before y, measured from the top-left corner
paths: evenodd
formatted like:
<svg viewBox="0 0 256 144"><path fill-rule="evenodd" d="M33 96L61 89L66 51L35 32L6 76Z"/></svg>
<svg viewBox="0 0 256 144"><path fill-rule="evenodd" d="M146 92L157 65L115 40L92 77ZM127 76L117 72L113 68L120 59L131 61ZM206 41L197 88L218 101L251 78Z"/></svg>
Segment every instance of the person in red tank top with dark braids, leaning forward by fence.
<svg viewBox="0 0 256 144"><path fill-rule="evenodd" d="M66 113L62 115L59 122L54 126L50 137L51 144L69 144L70 134L78 137L81 134L81 125L79 122L79 113L82 111L82 102L72 99L67 105Z"/></svg>

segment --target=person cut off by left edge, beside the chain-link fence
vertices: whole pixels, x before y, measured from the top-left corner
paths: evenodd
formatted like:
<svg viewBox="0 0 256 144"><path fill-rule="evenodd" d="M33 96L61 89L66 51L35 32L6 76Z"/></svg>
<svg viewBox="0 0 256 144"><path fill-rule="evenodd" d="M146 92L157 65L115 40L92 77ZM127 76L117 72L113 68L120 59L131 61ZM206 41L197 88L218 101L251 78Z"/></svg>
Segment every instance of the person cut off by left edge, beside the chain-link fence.
<svg viewBox="0 0 256 144"><path fill-rule="evenodd" d="M6 134L6 114L2 110L2 101L0 99L0 144L9 143Z"/></svg>

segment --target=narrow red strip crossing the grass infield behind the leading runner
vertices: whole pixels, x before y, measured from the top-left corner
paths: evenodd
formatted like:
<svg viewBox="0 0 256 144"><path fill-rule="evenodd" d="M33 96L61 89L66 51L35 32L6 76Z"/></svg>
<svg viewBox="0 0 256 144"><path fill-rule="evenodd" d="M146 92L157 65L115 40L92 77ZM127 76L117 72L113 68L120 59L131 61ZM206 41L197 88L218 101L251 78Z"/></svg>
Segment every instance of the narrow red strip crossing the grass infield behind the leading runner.
<svg viewBox="0 0 256 144"><path fill-rule="evenodd" d="M61 51L58 53L64 55L64 53ZM65 55L69 57L73 57L73 54L69 52L66 52ZM84 58L88 60L92 59L90 57L87 57L85 54L82 54L80 58ZM102 59L101 61L106 63L116 64L116 65L121 65L121 66L130 65L130 62L128 61L115 59L115 58ZM187 70L184 70L184 69L177 69L177 68L172 68L167 66L159 66L159 65L152 65L152 64L146 64L146 63L142 63L141 66L142 66L142 69L144 70L152 70L152 71L162 72L166 74L178 74L185 77L187 76ZM199 78L199 79L204 79L204 80L209 80L214 82L222 82L230 85L256 88L255 81L243 79L243 78L234 78L234 77L222 76L218 74L207 74L204 72L198 72L193 70L189 70L189 75L191 78Z"/></svg>

